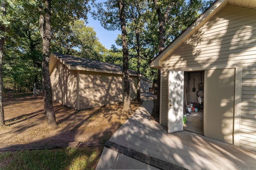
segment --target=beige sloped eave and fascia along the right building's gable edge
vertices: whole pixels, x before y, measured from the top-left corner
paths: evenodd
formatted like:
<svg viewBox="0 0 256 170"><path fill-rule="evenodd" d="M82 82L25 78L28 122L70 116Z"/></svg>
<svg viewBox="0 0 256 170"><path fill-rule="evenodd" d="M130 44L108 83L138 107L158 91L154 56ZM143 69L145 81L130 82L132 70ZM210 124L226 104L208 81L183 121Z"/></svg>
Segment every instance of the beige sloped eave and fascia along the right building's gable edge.
<svg viewBox="0 0 256 170"><path fill-rule="evenodd" d="M150 62L150 66L160 69L162 61L182 45L191 35L193 35L207 21L213 18L226 5L233 4L256 9L256 0L216 0L206 9L193 23L191 23L180 35L170 43L156 58Z"/></svg>

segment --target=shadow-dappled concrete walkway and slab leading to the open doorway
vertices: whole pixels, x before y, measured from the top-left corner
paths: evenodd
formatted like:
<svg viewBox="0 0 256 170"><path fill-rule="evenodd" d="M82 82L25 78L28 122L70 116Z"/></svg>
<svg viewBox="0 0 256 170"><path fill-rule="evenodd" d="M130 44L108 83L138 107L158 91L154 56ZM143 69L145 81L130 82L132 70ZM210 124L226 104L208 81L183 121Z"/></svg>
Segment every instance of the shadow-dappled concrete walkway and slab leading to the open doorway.
<svg viewBox="0 0 256 170"><path fill-rule="evenodd" d="M153 105L145 100L114 133L96 169L255 170L254 151L188 131L166 133L150 117Z"/></svg>

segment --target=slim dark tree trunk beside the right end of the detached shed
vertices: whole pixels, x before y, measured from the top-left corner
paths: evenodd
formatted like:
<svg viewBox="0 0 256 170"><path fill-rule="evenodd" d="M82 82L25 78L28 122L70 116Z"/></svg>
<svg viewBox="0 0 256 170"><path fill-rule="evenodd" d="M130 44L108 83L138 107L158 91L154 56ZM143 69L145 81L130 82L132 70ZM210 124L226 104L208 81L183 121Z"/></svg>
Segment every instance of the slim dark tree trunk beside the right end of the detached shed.
<svg viewBox="0 0 256 170"><path fill-rule="evenodd" d="M137 50L137 73L138 73L138 85L137 85L137 101L140 101L140 33L136 33L136 50Z"/></svg>

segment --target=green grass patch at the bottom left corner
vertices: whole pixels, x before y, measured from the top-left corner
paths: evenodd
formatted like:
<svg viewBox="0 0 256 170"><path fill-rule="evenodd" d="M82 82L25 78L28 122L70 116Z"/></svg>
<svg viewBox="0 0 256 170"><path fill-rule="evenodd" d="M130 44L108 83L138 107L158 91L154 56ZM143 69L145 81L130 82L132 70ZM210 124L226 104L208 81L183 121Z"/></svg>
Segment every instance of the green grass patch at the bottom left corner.
<svg viewBox="0 0 256 170"><path fill-rule="evenodd" d="M103 147L0 152L0 170L95 169Z"/></svg>

